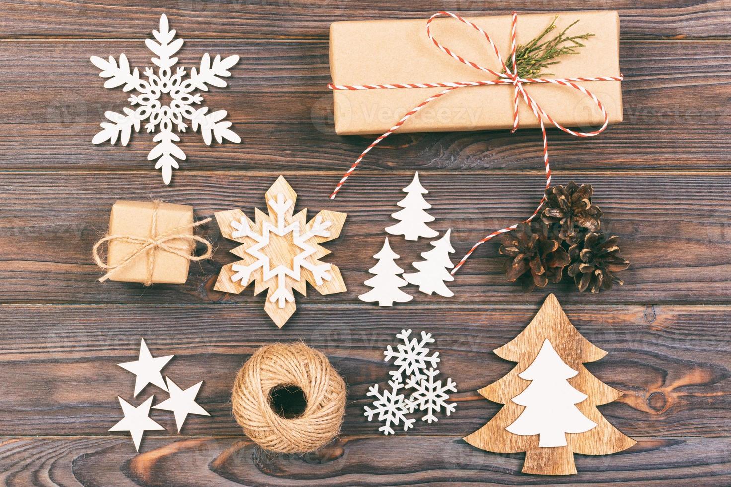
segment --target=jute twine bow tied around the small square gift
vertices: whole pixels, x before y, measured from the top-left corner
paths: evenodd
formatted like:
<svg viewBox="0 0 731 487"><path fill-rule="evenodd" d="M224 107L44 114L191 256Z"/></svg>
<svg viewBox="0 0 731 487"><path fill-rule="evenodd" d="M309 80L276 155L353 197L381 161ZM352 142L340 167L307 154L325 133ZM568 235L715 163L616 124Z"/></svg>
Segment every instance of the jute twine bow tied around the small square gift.
<svg viewBox="0 0 731 487"><path fill-rule="evenodd" d="M211 242L198 235L181 233L181 230L195 228L199 225L208 223L211 221L211 218L206 218L200 220L199 222L184 224L180 227L173 228L173 230L168 230L162 235L157 235L157 209L160 203L161 202L159 200L153 201L149 236L136 237L135 235L105 235L104 238L96 242L96 244L94 245L94 250L92 251L94 254L94 262L96 262L96 265L99 265L100 268L104 269L105 271L109 271L104 276L99 278L99 282L105 282L107 279L110 278L110 276L113 275L113 273L121 268L124 268L126 265L131 263L132 260L135 260L135 258L139 257L145 252L147 252L147 272L145 274L145 281L143 282L143 285L145 286L149 286L150 284L152 284L152 273L155 268L155 257L157 252L168 252L170 254L175 254L178 257L183 257L183 259L190 260L191 262L198 262L200 260L206 260L211 258L211 255L213 255L213 246L211 245ZM104 243L113 240L137 243L140 245L140 247L135 250L135 252L132 252L132 254L129 254L127 257L125 257L124 260L121 261L121 263L118 263L116 265L107 265L102 260L102 257L99 255L99 249ZM196 257L194 255L191 255L192 249L189 245L181 246L168 243L174 240L184 240L188 241L188 243L202 243L203 245L205 245L205 254Z"/></svg>

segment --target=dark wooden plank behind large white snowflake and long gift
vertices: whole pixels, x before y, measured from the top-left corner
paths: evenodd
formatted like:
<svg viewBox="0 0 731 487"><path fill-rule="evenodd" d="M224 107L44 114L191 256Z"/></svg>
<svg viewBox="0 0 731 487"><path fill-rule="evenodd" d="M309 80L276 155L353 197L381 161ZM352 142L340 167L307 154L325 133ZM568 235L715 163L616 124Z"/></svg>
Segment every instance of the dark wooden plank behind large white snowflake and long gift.
<svg viewBox="0 0 731 487"><path fill-rule="evenodd" d="M554 169L731 169L731 108L726 102L731 87L724 83L731 71L730 45L623 42L624 122L590 140L551 129ZM88 58L124 52L133 66L145 67L151 53L143 38L12 41L1 47L0 169L153 171L147 154L154 143L147 133L133 135L129 146L91 143L105 110L120 111L128 95L103 88L104 80ZM199 134L183 134L181 148L188 159L174 178L200 170L344 173L373 140L335 134L333 95L326 88L327 42L192 40L180 52L181 64L190 67L205 52L241 56L227 78L229 86L204 97L213 109L227 110L243 141L208 147ZM397 134L371 151L361 170L539 170L540 147L535 129L512 135Z"/></svg>

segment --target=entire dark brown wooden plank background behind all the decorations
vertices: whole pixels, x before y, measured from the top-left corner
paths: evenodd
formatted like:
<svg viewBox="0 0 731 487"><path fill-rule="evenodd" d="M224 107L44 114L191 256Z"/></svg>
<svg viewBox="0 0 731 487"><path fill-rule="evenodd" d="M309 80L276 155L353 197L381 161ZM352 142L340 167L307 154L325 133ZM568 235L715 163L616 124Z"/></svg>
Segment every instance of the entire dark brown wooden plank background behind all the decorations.
<svg viewBox="0 0 731 487"><path fill-rule="evenodd" d="M369 142L332 127L327 29L334 20L426 18L613 9L621 16L625 121L591 140L552 130L555 181L594 184L605 224L632 261L626 284L579 295L551 290L607 358L588 364L623 390L600 407L638 444L613 456L577 456L579 475L520 474L522 455L461 440L499 410L475 390L512 367L491 350L529 322L547 291L523 295L504 282L488 243L458 274L455 298L418 295L393 309L357 300L400 189L420 170L435 227L452 227L461 256L471 243L532 210L542 185L537 131L396 135L369 154L335 201L327 192ZM708 486L731 484L731 1L0 0L0 480L8 486L402 485L431 483ZM230 86L206 94L227 110L240 145L205 146L189 133L189 159L164 187L145 156L151 137L93 146L105 110L126 106L105 90L89 56L126 53L149 64L143 43L167 13L186 45L238 54ZM329 245L349 291L298 301L277 330L263 296L213 291L233 243L204 233L213 260L181 286L143 290L99 284L91 246L118 199L159 197L199 216L262 207L284 174L300 208L346 211ZM404 266L420 246L394 239ZM417 248L419 247L419 248ZM414 292L409 290L409 292ZM457 381L451 418L414 434L382 437L363 418L366 390L383 382L382 350L406 327L434 333L442 370ZM129 398L140 337L175 354L173 377L205 379L211 418L183 435L145 438L141 453L108 434ZM316 454L269 456L230 413L240 365L262 344L303 340L325 352L349 384L340 439ZM188 380L188 379L186 379ZM183 382L183 381L181 381ZM145 396L143 394L143 396ZM145 396L146 397L146 396ZM137 401L135 401L137 404ZM170 431L170 415L154 412Z"/></svg>

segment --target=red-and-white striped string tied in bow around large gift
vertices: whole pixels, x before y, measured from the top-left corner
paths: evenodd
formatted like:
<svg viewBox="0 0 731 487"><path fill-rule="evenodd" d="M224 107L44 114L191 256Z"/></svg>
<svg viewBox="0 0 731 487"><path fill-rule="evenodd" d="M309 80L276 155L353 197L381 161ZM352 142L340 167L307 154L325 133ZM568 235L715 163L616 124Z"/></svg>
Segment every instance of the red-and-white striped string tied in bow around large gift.
<svg viewBox="0 0 731 487"><path fill-rule="evenodd" d="M503 69L502 72L496 72L493 69L480 66L480 64L474 63L472 61L469 61L462 56L459 56L457 53L452 52L449 48L445 47L444 45L440 44L434 37L431 35L431 22L435 18L439 17L451 17L455 20L459 20L461 23L466 24L467 26L470 26L472 29L480 32L482 36L487 39L487 41L490 43L490 45L493 47L493 50L495 51L495 54L500 61L501 67ZM507 64L503 61L502 56L500 55L500 52L493 42L493 39L490 38L490 36L487 34L487 32L480 29L479 26L476 26L474 23L471 23L469 20L465 20L461 18L459 15L454 14L452 12L438 12L429 18L426 22L426 34L428 35L429 39L431 39L431 42L436 45L437 48L442 50L442 52L447 53L452 58L455 58L457 61L460 61L463 64L466 64L467 66L473 67L474 69L478 69L482 72L488 72L493 76L496 76L498 79L496 80L482 80L482 81L468 81L468 82L455 82L455 83L418 83L418 84L393 84L393 85L363 85L363 86L346 86L346 85L335 85L333 83L330 83L328 85L328 88L332 90L351 90L351 91L358 91L358 90L382 90L382 89L409 89L409 88L447 88L444 91L440 91L438 94L433 95L432 97L428 97L423 102L421 102L419 105L414 107L412 110L409 111L409 113L406 113L404 117L401 118L396 124L388 129L387 132L385 132L380 137L376 138L376 140L371 143L370 146L366 147L366 150L360 153L360 156L356 159L355 163L350 167L349 170L343 175L343 178L340 180L338 185L335 188L335 191L333 191L333 194L330 195L330 199L333 199L336 197L338 192L341 190L343 185L345 184L345 181L349 178L349 176L355 171L355 168L360 164L360 161L363 160L363 157L368 154L368 151L370 151L372 148L378 145L382 140L384 140L389 135L393 134L398 127L401 127L401 125L404 124L409 118L414 116L415 113L417 113L419 110L421 110L425 105L428 105L429 103L433 102L435 99L443 97L445 94L450 93L451 91L457 90L459 88L466 88L467 86L493 86L493 85L512 85L515 87L515 97L513 99L513 112L512 112L512 132L515 132L518 130L518 126L520 124L520 120L518 118L518 104L520 102L520 99L523 99L523 102L526 102L526 105L528 105L531 110L533 111L533 114L536 116L540 123L541 132L543 135L543 163L545 165L545 173L546 173L546 186L545 189L548 189L550 186L550 167L548 165L548 138L546 137L546 129L544 125L544 118L545 120L548 120L551 124L553 124L554 127L563 130L567 134L575 135L576 137L594 137L594 135L599 135L607 128L607 124L609 123L609 116L607 115L607 110L605 110L604 105L602 105L602 102L599 101L599 99L594 96L590 91L588 91L586 88L583 88L583 86L578 86L577 84L573 83L574 81L621 81L624 79L624 77L620 74L618 76L595 76L591 78L520 78L518 76L518 66L516 64L515 55L518 51L518 43L516 42L516 33L517 33L517 26L518 26L518 13L512 12L512 26L510 31L510 56L512 57L512 67L513 70L511 70L509 67L507 67ZM568 129L567 127L564 127L563 125L559 124L557 121L555 121L548 113L546 113L540 105L537 104L537 102L526 92L526 89L523 85L525 84L535 84L535 83L552 83L554 85L558 86L568 86L569 88L574 88L575 90L580 91L581 93L585 94L587 97L591 98L591 100L594 102L594 104L599 107L599 110L602 110L602 115L604 116L604 123L602 124L602 127L599 127L599 129L594 130L593 132L576 132L572 129ZM536 211L533 212L531 216L529 216L528 219L526 219L526 222L531 221L532 219L539 214L539 211L541 210L541 207L545 203L545 192L544 196L541 199L538 207L536 208ZM501 233L510 232L510 230L513 230L515 227L518 227L518 223L510 225L510 227L501 228L500 230L496 230L495 232L491 233L490 235L487 235L485 238L482 238L482 240L478 241L477 243L472 246L472 248L467 252L467 254L462 257L462 260L455 265L455 268L452 269L452 275L459 270L459 268L462 267L462 265L466 262L467 259L469 259L469 256L474 252L477 247L482 245L482 243L485 243L486 241L491 240L491 238L495 237L496 235L500 235Z"/></svg>

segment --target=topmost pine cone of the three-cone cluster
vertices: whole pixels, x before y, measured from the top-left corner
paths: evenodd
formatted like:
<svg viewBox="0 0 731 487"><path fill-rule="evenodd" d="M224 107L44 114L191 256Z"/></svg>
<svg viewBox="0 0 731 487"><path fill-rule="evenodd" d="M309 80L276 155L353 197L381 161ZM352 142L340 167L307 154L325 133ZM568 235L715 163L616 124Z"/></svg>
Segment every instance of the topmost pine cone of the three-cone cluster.
<svg viewBox="0 0 731 487"><path fill-rule="evenodd" d="M602 210L591 204L593 193L591 184L578 186L574 181L566 186L552 186L546 189L541 219L549 225L557 224L560 227L558 236L569 245L575 245L586 230L599 231Z"/></svg>

